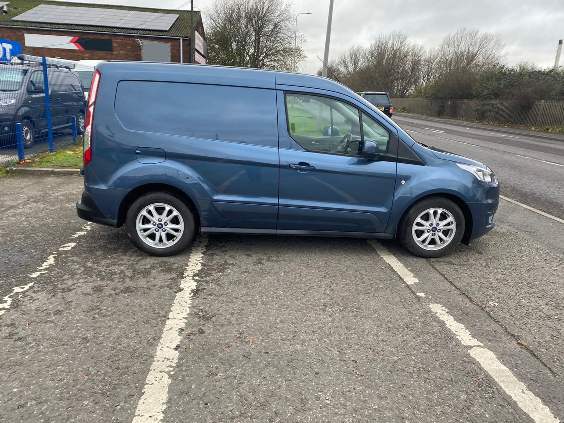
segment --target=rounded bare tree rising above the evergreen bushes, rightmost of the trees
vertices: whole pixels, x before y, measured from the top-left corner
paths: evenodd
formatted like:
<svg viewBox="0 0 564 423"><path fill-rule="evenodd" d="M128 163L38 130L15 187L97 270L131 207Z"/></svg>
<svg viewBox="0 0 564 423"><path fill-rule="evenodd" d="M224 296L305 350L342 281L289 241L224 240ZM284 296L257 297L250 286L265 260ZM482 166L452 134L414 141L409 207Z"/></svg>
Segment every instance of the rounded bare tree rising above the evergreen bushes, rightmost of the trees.
<svg viewBox="0 0 564 423"><path fill-rule="evenodd" d="M439 46L441 72L468 71L498 65L504 58L501 34L477 28L460 28L443 38Z"/></svg>

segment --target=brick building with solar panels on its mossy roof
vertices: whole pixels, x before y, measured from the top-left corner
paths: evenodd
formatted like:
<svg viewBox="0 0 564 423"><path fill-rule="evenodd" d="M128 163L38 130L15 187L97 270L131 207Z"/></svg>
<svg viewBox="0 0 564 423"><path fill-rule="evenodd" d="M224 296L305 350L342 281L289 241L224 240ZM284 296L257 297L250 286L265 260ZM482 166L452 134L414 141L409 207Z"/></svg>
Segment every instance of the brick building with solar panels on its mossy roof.
<svg viewBox="0 0 564 423"><path fill-rule="evenodd" d="M190 10L10 0L6 11L0 14L0 38L21 43L24 54L69 60L168 61L169 57L172 62L190 63ZM193 25L196 61L205 63L205 32L198 11L193 12ZM155 49L160 51L157 56Z"/></svg>

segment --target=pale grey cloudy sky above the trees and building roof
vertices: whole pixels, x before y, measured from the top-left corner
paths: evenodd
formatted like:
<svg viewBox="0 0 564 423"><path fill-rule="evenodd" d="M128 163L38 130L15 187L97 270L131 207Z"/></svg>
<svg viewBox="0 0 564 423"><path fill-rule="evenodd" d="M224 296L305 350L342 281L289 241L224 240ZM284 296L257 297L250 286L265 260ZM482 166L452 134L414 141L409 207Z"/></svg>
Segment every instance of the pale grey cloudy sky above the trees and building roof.
<svg viewBox="0 0 564 423"><path fill-rule="evenodd" d="M91 3L162 8L190 8L186 0L90 0ZM82 0L82 2L85 2ZM213 0L194 0L202 11ZM323 58L329 0L296 0L294 12L311 12L298 18L305 34L308 56L305 72L315 73ZM337 0L329 59L337 58L355 44L368 45L377 34L400 30L427 47L437 46L449 32L460 27L499 32L506 45L506 63L532 61L541 67L554 65L558 39L564 38L562 0ZM564 61L564 57L561 60Z"/></svg>

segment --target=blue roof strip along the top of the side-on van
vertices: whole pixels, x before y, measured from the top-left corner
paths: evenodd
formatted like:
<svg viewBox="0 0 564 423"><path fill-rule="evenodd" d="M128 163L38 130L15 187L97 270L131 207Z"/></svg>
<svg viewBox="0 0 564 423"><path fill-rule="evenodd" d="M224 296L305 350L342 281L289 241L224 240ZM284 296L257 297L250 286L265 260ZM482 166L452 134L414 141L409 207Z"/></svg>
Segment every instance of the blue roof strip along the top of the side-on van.
<svg viewBox="0 0 564 423"><path fill-rule="evenodd" d="M166 79L166 74L179 78L186 78L186 82L201 81L201 83L215 83L218 85L240 85L275 89L285 86L301 86L321 90L340 92L353 95L354 91L348 87L316 75L284 72L281 70L239 68L220 65L201 65L190 63L161 63L148 61L104 61L96 66L102 75L104 72L155 72L159 78ZM146 78L146 75L143 75ZM190 81L188 81L190 80Z"/></svg>

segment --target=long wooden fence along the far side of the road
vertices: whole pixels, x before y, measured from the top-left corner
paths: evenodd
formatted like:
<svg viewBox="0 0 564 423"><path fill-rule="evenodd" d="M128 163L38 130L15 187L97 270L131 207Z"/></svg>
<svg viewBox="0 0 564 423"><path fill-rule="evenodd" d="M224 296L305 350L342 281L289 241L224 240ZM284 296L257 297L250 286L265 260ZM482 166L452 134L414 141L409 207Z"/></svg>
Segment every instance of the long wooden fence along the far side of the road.
<svg viewBox="0 0 564 423"><path fill-rule="evenodd" d="M564 126L564 101L537 100L530 109L499 100L442 100L394 98L394 109L408 113L490 120L530 126Z"/></svg>

